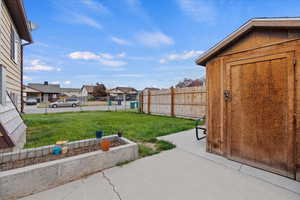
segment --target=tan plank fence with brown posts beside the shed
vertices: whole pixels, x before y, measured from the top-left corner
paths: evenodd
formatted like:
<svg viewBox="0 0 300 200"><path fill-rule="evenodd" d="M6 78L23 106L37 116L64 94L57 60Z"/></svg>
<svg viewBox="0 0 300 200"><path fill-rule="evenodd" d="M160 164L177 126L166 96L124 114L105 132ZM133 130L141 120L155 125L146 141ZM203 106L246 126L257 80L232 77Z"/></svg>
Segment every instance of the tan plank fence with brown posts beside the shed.
<svg viewBox="0 0 300 200"><path fill-rule="evenodd" d="M206 87L144 90L140 95L140 111L195 119L205 115L206 98Z"/></svg>

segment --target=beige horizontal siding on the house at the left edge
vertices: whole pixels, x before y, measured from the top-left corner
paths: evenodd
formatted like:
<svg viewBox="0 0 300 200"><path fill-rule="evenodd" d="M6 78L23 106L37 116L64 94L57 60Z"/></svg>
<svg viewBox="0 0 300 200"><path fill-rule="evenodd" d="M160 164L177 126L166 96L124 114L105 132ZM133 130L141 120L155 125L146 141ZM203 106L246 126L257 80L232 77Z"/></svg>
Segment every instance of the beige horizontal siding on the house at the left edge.
<svg viewBox="0 0 300 200"><path fill-rule="evenodd" d="M18 63L11 59L10 35L11 26L15 29L5 3L2 1L1 24L1 64L7 69L7 90L17 95L18 108L21 106L21 48L19 47Z"/></svg>

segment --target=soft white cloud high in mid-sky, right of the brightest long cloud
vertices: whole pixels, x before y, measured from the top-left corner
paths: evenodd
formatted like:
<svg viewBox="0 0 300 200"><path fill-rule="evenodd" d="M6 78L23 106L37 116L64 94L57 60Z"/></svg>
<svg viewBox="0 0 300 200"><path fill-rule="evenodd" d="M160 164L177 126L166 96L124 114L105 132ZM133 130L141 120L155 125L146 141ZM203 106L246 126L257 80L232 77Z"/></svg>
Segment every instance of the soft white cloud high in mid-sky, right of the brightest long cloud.
<svg viewBox="0 0 300 200"><path fill-rule="evenodd" d="M137 35L137 39L140 43L148 47L174 44L174 40L162 32L141 32Z"/></svg>

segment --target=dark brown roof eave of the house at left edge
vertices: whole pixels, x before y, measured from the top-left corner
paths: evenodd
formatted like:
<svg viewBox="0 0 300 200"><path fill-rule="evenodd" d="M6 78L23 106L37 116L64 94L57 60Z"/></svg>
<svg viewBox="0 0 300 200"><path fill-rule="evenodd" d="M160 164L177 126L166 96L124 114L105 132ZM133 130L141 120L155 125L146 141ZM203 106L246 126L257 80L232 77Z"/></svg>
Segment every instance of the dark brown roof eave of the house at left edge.
<svg viewBox="0 0 300 200"><path fill-rule="evenodd" d="M4 0L21 39L32 42L23 0Z"/></svg>

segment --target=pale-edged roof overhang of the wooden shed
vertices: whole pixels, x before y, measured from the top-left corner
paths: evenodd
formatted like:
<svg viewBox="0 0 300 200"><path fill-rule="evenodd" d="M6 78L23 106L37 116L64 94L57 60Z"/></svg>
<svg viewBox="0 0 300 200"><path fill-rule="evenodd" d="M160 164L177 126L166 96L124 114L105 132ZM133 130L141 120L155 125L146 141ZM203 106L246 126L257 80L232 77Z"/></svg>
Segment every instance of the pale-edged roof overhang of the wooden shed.
<svg viewBox="0 0 300 200"><path fill-rule="evenodd" d="M227 36L224 40L217 43L211 49L200 55L196 59L196 64L206 65L206 63L223 51L227 46L240 39L255 28L300 28L300 17L281 17L281 18L253 18L247 21L239 29Z"/></svg>

